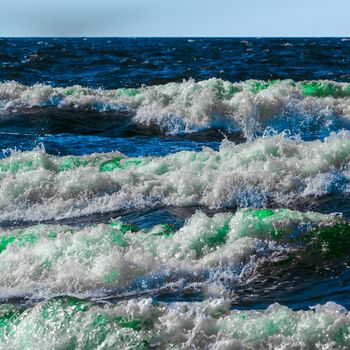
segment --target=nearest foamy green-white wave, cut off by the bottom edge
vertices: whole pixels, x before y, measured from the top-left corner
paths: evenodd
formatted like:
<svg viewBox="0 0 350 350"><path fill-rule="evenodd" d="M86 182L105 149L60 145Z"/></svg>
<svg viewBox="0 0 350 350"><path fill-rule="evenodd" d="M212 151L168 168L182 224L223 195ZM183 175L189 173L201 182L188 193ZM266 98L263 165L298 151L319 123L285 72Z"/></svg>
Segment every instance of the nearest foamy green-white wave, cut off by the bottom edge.
<svg viewBox="0 0 350 350"><path fill-rule="evenodd" d="M237 311L223 299L97 305L60 297L25 311L0 307L0 346L7 349L345 349L349 329L349 314L334 303L309 311L278 304L263 311Z"/></svg>

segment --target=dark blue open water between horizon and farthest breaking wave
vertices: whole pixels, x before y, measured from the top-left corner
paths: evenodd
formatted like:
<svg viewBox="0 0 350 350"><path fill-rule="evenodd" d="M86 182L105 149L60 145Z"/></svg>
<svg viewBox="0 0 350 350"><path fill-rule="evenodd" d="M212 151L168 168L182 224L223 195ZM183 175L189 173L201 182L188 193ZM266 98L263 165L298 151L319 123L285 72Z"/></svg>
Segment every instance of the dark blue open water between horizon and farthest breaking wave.
<svg viewBox="0 0 350 350"><path fill-rule="evenodd" d="M0 79L105 89L193 78L349 81L342 38L1 39Z"/></svg>

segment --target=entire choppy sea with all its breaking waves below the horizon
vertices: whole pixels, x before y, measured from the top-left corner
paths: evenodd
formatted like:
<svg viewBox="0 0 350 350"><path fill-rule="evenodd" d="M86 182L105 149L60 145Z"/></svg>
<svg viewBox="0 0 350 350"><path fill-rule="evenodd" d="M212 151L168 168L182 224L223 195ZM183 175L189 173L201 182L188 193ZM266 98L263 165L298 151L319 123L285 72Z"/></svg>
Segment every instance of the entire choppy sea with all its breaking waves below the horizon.
<svg viewBox="0 0 350 350"><path fill-rule="evenodd" d="M0 39L0 348L350 348L349 49Z"/></svg>

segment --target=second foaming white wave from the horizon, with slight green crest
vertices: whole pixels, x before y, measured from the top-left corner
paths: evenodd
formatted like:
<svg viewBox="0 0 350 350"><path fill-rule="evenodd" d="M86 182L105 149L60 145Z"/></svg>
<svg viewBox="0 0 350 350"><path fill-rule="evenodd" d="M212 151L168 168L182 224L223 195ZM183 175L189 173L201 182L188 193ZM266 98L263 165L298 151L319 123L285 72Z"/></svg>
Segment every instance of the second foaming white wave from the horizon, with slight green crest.
<svg viewBox="0 0 350 350"><path fill-rule="evenodd" d="M348 195L350 134L283 136L164 157L57 157L42 149L0 161L0 220L43 221L155 206L266 207Z"/></svg>

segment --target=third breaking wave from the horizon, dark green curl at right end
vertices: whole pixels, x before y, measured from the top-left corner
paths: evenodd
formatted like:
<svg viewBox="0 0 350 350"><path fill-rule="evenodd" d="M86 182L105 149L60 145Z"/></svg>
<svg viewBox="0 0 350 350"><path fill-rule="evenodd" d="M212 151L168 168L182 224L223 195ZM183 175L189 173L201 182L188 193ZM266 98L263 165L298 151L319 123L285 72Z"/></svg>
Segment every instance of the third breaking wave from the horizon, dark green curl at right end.
<svg viewBox="0 0 350 350"><path fill-rule="evenodd" d="M39 225L1 232L0 296L142 291L186 276L206 285L225 275L239 284L249 267L258 270L259 256L276 264L283 252L331 261L349 244L350 226L341 217L288 209L242 209L212 218L197 212L177 231L169 225L138 230L119 221L84 229Z"/></svg>

